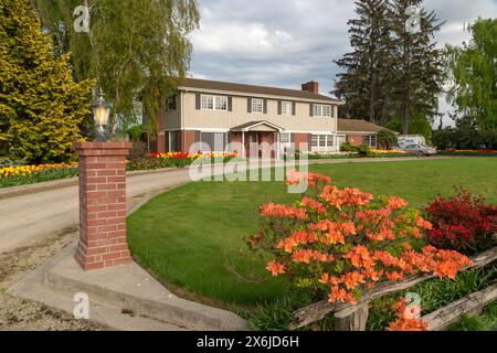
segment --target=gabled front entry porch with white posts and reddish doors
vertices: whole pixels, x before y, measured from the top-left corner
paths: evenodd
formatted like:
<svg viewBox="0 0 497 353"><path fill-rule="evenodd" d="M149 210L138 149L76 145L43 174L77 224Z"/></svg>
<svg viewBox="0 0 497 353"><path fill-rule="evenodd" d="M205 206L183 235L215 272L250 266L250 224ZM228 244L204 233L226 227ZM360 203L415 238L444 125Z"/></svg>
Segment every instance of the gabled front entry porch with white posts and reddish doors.
<svg viewBox="0 0 497 353"><path fill-rule="evenodd" d="M281 133L284 131L268 121L252 121L231 129L231 141L239 142L245 158L281 159Z"/></svg>

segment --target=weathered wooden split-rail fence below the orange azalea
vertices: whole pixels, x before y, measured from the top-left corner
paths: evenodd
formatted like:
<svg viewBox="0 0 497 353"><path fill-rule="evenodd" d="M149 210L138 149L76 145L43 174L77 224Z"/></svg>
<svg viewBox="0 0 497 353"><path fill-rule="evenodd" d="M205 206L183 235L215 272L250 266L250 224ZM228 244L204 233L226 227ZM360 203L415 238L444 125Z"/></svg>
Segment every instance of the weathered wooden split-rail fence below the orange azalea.
<svg viewBox="0 0 497 353"><path fill-rule="evenodd" d="M497 259L497 247L472 257L474 263L469 268L480 268ZM377 285L371 291L364 292L362 299L356 304L338 303L330 304L322 300L311 306L298 309L294 312L295 320L290 323L289 329L295 330L309 323L324 319L327 314L334 313L337 318L337 331L364 331L366 321L368 319L368 307L371 300L383 296L409 289L422 281L435 278L433 275L420 275L408 278L402 282L382 282Z"/></svg>

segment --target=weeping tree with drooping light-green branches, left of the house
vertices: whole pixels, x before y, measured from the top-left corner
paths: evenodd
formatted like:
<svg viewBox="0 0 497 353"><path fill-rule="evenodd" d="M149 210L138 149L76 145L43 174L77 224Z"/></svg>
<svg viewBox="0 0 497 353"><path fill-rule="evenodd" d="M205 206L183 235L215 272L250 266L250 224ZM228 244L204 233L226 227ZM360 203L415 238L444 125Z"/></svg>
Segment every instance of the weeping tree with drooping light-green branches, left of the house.
<svg viewBox="0 0 497 353"><path fill-rule="evenodd" d="M76 31L82 0L33 0L59 50L71 52L77 79L95 78L113 106L114 127L120 117L135 118L136 103L157 117L167 97L186 76L199 26L197 0L85 0L88 31ZM80 23L77 23L80 22ZM156 119L147 119L150 132Z"/></svg>

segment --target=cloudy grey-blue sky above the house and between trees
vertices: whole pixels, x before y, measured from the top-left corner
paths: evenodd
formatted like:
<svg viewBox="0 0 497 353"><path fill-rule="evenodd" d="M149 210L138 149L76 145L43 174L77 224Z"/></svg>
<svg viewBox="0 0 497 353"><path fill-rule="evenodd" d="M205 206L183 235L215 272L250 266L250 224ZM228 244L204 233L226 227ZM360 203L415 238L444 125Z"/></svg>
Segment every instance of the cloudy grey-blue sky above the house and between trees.
<svg viewBox="0 0 497 353"><path fill-rule="evenodd" d="M318 81L334 88L332 60L349 50L352 0L199 0L201 29L192 35L191 75L287 88ZM425 0L446 21L440 45L467 40L465 23L496 18L497 0ZM441 107L446 109L446 107Z"/></svg>

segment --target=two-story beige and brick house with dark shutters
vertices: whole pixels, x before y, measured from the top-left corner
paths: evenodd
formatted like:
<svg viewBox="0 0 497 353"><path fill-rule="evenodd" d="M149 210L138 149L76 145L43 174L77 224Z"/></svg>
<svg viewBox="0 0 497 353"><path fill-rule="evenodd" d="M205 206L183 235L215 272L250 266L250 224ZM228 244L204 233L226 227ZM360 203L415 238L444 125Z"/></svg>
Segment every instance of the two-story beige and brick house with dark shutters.
<svg viewBox="0 0 497 353"><path fill-rule="evenodd" d="M338 105L319 94L317 82L297 90L186 78L159 117L149 149L230 150L250 158L278 158L290 147L337 151L345 140L337 135Z"/></svg>

